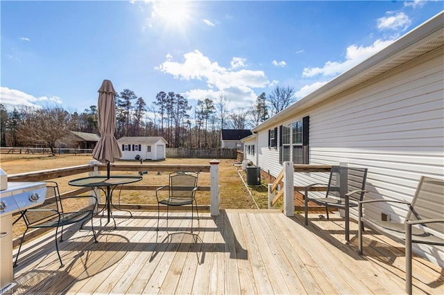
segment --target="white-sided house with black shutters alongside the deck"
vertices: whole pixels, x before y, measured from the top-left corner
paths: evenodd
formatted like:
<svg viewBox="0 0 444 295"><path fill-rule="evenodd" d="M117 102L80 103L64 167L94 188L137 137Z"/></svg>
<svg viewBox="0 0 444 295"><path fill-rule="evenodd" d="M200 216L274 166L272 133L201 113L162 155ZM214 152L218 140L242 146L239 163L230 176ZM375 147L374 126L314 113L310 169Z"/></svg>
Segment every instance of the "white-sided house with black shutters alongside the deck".
<svg viewBox="0 0 444 295"><path fill-rule="evenodd" d="M443 19L441 12L253 128L257 136L244 141L255 141L253 162L274 177L284 161L366 167L366 199L411 201L421 175L442 179ZM295 186L312 182L327 179L295 173ZM406 207L381 203L365 210L400 222L407 214ZM443 247L415 246L444 267Z"/></svg>

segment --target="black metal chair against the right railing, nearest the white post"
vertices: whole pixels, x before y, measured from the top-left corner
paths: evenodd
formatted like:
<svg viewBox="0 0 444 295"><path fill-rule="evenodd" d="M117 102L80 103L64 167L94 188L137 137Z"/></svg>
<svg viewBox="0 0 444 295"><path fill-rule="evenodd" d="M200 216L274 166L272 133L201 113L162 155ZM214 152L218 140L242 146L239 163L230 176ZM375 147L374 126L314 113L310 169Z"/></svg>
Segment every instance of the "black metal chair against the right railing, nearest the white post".
<svg viewBox="0 0 444 295"><path fill-rule="evenodd" d="M340 195L339 183L340 175L346 176L347 193ZM325 195L311 193L309 190L325 184L311 184L305 187L305 225L308 225L308 202L314 202L318 205L325 206L327 220L329 219L328 208L345 208L345 197L349 198L349 207L357 207L358 202L364 199L366 193L367 168L352 168L333 166L327 184L327 192Z"/></svg>

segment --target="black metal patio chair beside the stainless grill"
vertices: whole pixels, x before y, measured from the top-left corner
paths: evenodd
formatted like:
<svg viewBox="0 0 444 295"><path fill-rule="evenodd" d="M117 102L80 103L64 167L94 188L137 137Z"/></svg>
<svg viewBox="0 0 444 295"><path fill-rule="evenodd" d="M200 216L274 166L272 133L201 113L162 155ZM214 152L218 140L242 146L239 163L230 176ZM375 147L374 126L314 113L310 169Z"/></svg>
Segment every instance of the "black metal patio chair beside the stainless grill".
<svg viewBox="0 0 444 295"><path fill-rule="evenodd" d="M23 233L22 241L20 242L19 251L17 251L17 256L15 257L14 266L17 266L17 260L19 259L20 249L22 249L22 244L25 239L26 232L28 229L37 228L56 228L56 249L58 259L60 260L60 267L64 267L62 258L58 251L58 231L60 230L60 242L63 241L63 226L69 224L75 224L77 222L82 222L80 229L83 228L83 223L89 218L91 219L92 233L94 235L94 242L97 242L96 233L94 232L94 225L92 222L92 217L94 215L94 209L97 206L97 198L95 196L74 196L74 197L60 197L60 191L58 189L58 184L54 181L46 182L46 199L42 206L38 208L28 209L22 212L21 217L23 217L24 223L26 225L26 231ZM67 199L93 199L93 205L89 205L80 211L65 212L63 211L62 201ZM20 219L20 218L19 218ZM18 219L18 220L19 220ZM15 220L17 222L18 220ZM15 223L14 222L14 223Z"/></svg>

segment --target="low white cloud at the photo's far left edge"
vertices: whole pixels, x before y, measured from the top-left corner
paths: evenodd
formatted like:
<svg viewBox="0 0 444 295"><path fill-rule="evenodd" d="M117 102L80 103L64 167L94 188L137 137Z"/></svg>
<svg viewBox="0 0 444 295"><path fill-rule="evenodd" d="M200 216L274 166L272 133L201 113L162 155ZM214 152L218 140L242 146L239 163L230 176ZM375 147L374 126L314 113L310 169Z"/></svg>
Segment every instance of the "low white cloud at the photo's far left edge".
<svg viewBox="0 0 444 295"><path fill-rule="evenodd" d="M24 93L16 89L9 89L8 87L0 87L0 101L7 109L13 109L14 107L41 107L39 102L52 102L61 104L62 99L58 96L40 96L36 98L31 94Z"/></svg>

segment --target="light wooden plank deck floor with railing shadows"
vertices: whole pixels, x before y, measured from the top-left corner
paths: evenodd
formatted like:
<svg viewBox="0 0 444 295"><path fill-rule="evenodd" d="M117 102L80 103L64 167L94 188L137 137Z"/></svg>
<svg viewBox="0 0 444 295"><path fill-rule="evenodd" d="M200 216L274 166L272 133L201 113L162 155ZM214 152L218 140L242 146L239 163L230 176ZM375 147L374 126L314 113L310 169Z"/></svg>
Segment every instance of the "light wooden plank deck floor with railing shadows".
<svg viewBox="0 0 444 295"><path fill-rule="evenodd" d="M162 213L164 214L164 213ZM69 229L59 268L53 235L25 244L15 268L17 294L404 294L404 247L366 231L357 253L357 224L350 244L343 220L278 211L202 213L195 234L191 213L115 212L117 229L94 219ZM102 222L102 225L100 224ZM196 223L195 223L196 225ZM158 235L157 235L158 234ZM157 240L156 240L157 236ZM444 294L444 271L422 258L413 261L413 293Z"/></svg>

